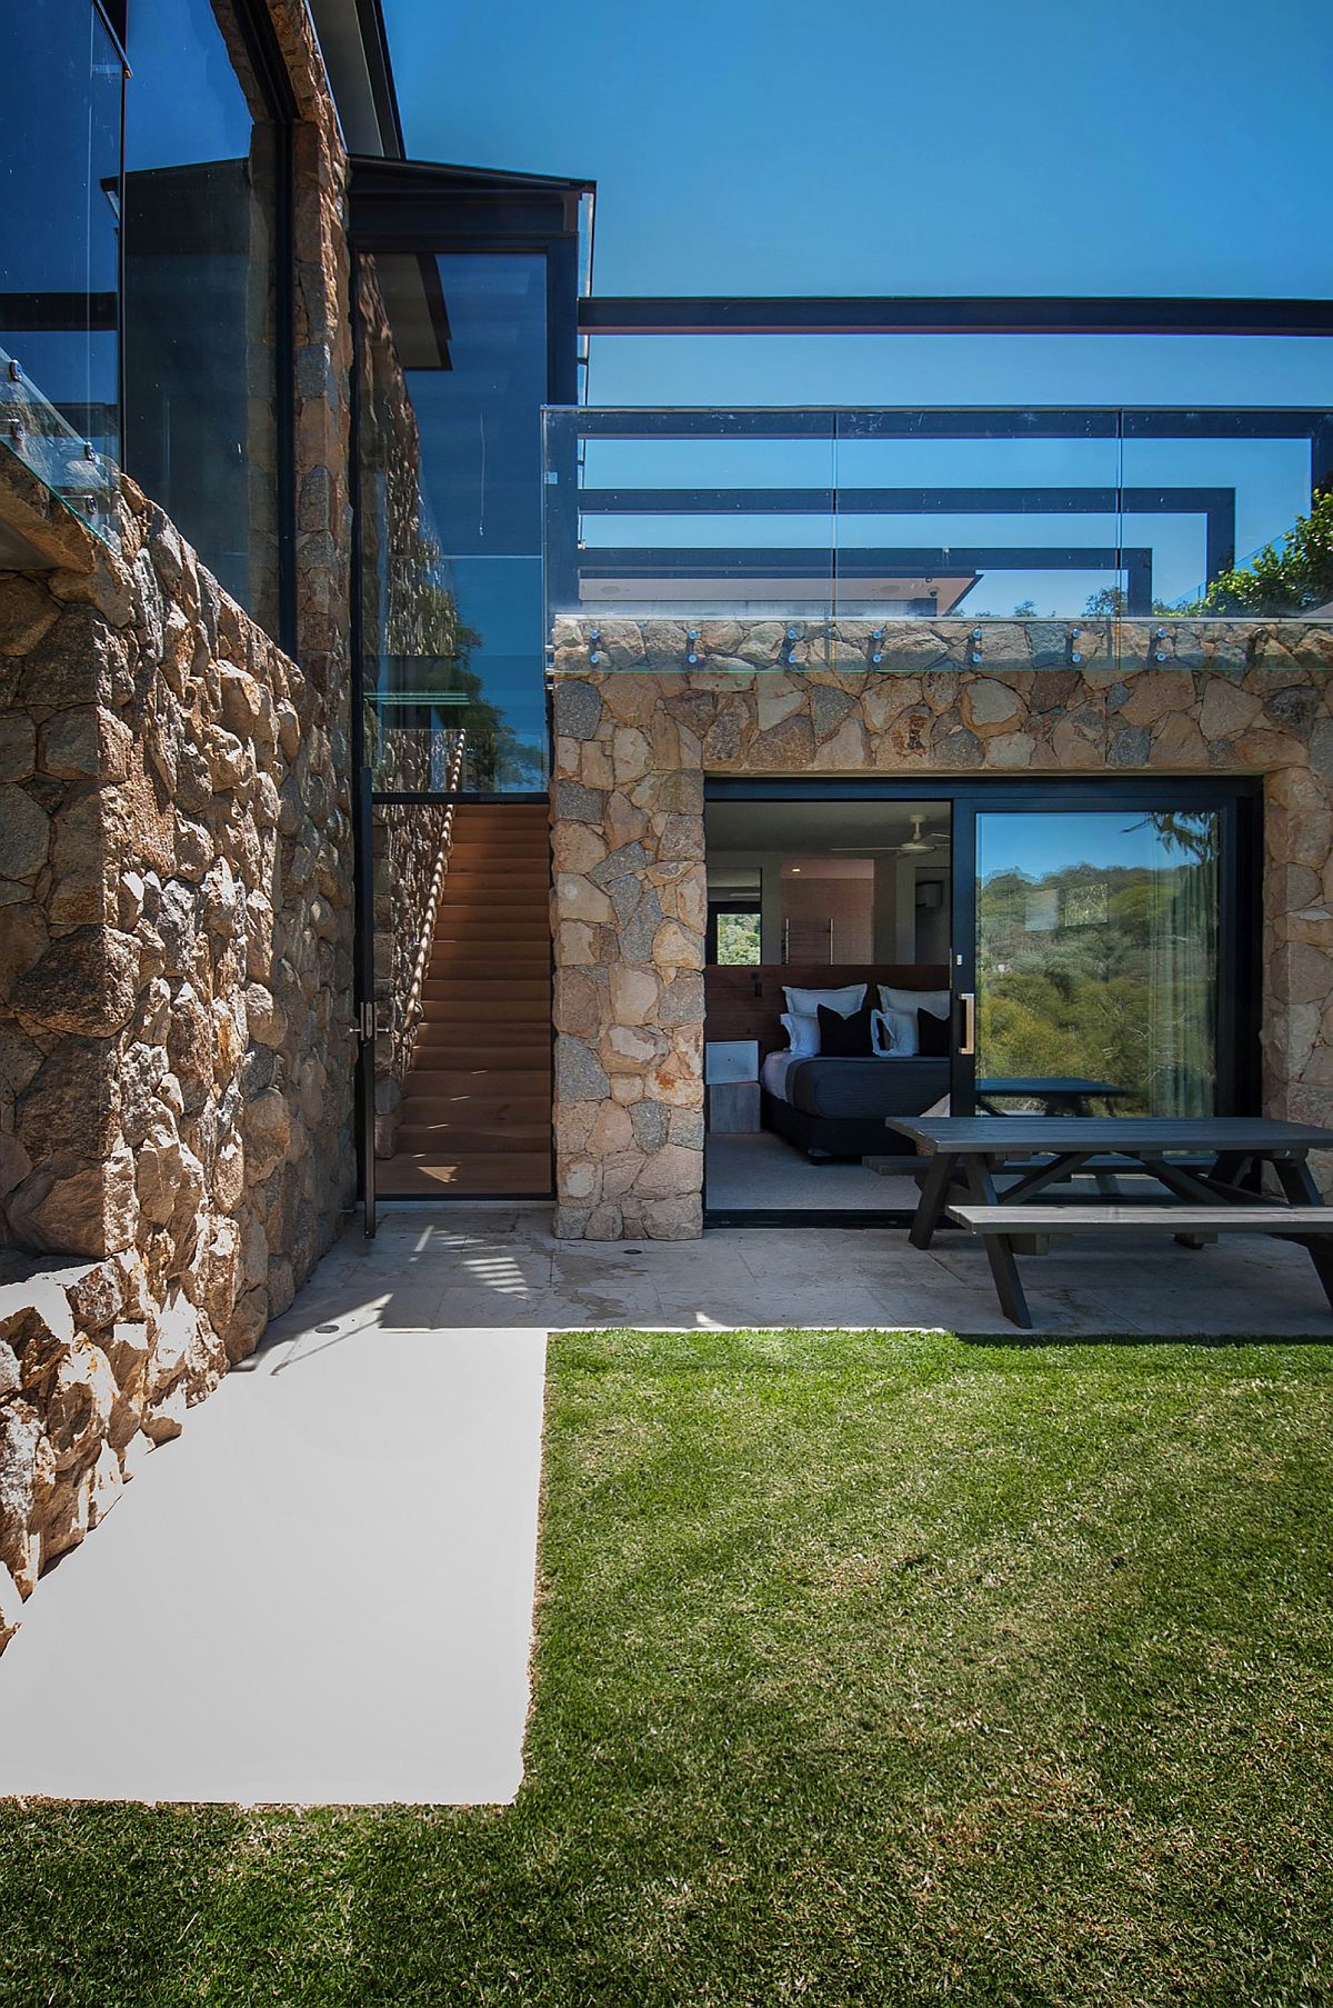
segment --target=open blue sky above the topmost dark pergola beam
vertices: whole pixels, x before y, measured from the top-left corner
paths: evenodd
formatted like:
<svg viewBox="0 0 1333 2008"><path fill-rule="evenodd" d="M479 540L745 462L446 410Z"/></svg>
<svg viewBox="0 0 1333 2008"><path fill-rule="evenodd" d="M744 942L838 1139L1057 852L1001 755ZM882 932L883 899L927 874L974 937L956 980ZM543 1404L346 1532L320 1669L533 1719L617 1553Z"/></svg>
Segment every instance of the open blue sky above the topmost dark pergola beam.
<svg viewBox="0 0 1333 2008"><path fill-rule="evenodd" d="M590 175L604 293L1333 283L1327 0L385 0L410 153Z"/></svg>

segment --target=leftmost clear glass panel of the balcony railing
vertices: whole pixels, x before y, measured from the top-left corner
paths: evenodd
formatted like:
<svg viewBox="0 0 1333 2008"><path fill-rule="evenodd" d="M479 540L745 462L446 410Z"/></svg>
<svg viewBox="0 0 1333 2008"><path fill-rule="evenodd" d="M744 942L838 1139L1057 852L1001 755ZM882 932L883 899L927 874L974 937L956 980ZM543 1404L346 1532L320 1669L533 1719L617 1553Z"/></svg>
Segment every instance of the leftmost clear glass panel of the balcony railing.
<svg viewBox="0 0 1333 2008"><path fill-rule="evenodd" d="M594 622L592 667L827 659L831 414L548 412L544 482L548 622Z"/></svg>

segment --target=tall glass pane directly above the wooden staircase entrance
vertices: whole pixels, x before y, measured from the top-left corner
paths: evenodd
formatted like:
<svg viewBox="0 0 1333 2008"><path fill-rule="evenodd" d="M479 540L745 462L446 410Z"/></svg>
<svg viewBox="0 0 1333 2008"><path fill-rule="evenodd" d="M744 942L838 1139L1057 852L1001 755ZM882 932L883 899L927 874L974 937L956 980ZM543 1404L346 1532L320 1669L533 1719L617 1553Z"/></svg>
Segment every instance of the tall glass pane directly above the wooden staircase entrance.
<svg viewBox="0 0 1333 2008"><path fill-rule="evenodd" d="M542 787L546 257L377 253L357 283L377 783Z"/></svg>

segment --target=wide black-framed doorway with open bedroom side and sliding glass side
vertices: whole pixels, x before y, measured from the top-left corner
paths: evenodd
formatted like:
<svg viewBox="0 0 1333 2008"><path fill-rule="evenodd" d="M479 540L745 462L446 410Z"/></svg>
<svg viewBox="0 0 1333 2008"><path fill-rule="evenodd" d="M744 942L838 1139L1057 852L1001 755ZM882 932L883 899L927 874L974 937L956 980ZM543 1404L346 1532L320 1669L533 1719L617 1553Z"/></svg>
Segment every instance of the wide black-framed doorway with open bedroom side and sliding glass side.
<svg viewBox="0 0 1333 2008"><path fill-rule="evenodd" d="M1251 1114L1245 779L723 781L705 1217L891 1225L921 1114Z"/></svg>

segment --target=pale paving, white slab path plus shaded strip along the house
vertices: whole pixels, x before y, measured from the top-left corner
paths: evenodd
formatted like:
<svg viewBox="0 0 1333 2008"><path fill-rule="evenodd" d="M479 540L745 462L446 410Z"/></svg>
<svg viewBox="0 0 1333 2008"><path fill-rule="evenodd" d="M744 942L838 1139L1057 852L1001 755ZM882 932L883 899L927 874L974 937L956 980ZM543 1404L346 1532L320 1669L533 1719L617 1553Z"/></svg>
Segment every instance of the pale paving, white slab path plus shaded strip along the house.
<svg viewBox="0 0 1333 2008"><path fill-rule="evenodd" d="M558 1243L548 1213L397 1205L373 1243L343 1233L261 1351L42 1580L0 1661L0 1793L504 1803L522 1777L550 1331L1014 1337L962 1235L925 1255L873 1229ZM1024 1277L1036 1337L1333 1329L1285 1243L1082 1243Z"/></svg>

